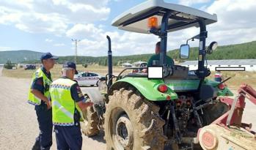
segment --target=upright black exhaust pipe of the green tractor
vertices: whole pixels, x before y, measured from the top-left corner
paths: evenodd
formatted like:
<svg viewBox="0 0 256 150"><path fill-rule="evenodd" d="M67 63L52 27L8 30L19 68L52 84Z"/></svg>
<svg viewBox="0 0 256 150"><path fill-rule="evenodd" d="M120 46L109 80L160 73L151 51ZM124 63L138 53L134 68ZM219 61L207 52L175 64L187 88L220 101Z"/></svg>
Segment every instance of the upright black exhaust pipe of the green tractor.
<svg viewBox="0 0 256 150"><path fill-rule="evenodd" d="M107 85L108 85L108 90L110 86L112 85L112 76L113 76L113 65L112 65L112 51L111 51L111 38L107 35L106 38L109 41L109 50L108 50L108 75L107 75Z"/></svg>

